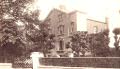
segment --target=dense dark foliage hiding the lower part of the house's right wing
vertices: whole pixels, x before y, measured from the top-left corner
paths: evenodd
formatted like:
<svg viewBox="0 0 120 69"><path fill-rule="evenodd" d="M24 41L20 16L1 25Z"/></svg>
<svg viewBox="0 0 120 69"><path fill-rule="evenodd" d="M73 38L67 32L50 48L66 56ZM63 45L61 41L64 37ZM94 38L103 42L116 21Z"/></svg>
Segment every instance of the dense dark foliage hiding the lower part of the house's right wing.
<svg viewBox="0 0 120 69"><path fill-rule="evenodd" d="M79 56L79 52L84 54L91 51L93 56L106 57L110 56L109 50L109 30L96 34L87 34L80 32L71 36L72 48Z"/></svg>

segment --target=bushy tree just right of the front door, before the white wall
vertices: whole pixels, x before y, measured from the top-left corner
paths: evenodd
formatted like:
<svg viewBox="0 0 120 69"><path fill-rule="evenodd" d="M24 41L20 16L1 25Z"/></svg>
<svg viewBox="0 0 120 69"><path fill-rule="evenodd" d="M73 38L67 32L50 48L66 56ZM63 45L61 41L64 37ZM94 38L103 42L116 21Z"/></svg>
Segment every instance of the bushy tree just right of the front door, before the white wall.
<svg viewBox="0 0 120 69"><path fill-rule="evenodd" d="M86 32L78 32L71 36L72 49L76 52L76 56L85 56L86 51L88 51L88 41Z"/></svg>

